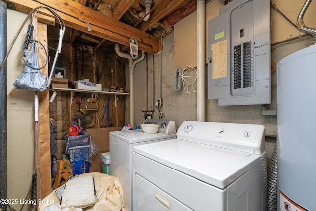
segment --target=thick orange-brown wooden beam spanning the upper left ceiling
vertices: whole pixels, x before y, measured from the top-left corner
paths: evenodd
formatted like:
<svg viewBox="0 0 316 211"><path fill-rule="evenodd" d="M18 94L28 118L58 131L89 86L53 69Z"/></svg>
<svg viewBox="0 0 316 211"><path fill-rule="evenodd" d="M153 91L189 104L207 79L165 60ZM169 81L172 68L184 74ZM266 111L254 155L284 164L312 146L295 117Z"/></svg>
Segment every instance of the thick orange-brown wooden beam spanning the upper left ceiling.
<svg viewBox="0 0 316 211"><path fill-rule="evenodd" d="M47 6L55 10L69 28L94 35L112 42L129 46L130 38L138 41L138 49L148 53L159 52L159 41L156 37L138 30L116 19L100 14L72 0L8 0L15 5L17 11L29 13L39 6ZM54 17L48 10L39 13ZM83 21L82 21L83 20ZM89 23L92 31L88 31Z"/></svg>

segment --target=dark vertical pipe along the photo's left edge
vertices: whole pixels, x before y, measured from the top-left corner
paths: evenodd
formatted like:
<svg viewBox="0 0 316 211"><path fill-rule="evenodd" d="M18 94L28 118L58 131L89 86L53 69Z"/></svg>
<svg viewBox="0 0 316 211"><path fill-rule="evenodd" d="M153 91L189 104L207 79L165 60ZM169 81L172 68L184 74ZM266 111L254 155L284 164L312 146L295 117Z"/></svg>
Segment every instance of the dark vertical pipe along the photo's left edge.
<svg viewBox="0 0 316 211"><path fill-rule="evenodd" d="M7 48L7 5L0 0L0 64L6 56ZM0 68L0 198L7 199L7 66ZM2 207L3 206L3 207ZM5 203L0 204L0 210L7 211Z"/></svg>

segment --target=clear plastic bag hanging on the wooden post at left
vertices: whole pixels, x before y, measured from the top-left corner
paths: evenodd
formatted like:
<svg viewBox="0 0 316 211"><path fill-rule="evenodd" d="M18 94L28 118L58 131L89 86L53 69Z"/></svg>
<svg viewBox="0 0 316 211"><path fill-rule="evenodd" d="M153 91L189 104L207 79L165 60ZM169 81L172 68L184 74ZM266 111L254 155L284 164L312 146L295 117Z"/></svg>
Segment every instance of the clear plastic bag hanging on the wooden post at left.
<svg viewBox="0 0 316 211"><path fill-rule="evenodd" d="M24 89L29 91L44 91L46 87L47 76L40 72L39 55L37 44L32 43L30 51L25 49L23 55L27 59L27 65L24 67L24 72L15 79L14 88ZM35 69L34 69L35 68Z"/></svg>

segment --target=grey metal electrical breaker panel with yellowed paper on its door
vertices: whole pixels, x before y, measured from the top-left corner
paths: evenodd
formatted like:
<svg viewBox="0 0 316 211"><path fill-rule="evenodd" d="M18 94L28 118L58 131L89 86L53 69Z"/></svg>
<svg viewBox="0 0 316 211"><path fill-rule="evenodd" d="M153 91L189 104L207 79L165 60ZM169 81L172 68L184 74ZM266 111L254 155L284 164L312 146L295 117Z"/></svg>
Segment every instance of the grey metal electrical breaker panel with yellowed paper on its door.
<svg viewBox="0 0 316 211"><path fill-rule="evenodd" d="M233 0L208 22L208 99L270 104L270 1Z"/></svg>

